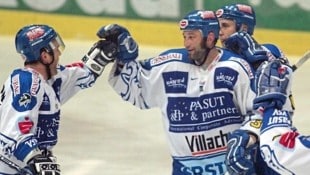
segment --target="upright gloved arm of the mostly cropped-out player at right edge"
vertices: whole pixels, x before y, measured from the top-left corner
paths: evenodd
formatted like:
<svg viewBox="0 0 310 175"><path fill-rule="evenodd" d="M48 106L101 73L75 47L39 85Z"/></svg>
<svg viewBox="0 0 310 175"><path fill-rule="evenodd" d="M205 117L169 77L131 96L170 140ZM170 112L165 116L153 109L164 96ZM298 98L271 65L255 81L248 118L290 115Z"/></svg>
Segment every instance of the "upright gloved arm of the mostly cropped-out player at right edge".
<svg viewBox="0 0 310 175"><path fill-rule="evenodd" d="M279 60L266 62L257 71L254 108L263 116L260 150L268 166L279 174L308 174L309 136L297 131L290 111L283 108L289 100L292 73Z"/></svg>

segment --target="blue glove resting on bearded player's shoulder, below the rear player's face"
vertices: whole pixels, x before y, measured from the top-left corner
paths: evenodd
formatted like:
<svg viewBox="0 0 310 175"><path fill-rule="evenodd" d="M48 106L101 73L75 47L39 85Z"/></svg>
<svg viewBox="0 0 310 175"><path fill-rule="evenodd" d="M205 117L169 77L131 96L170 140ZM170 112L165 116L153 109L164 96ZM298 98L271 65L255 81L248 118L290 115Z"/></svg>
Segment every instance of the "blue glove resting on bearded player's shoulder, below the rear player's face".
<svg viewBox="0 0 310 175"><path fill-rule="evenodd" d="M267 51L246 32L236 32L226 41L225 47L244 57L249 63L267 61Z"/></svg>

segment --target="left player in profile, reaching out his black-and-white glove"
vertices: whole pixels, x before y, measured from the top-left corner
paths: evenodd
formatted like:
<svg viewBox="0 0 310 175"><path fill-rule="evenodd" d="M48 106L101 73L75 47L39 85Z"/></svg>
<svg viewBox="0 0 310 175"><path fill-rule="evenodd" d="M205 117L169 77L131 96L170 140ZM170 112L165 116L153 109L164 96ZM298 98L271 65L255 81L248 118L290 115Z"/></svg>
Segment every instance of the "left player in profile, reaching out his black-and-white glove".
<svg viewBox="0 0 310 175"><path fill-rule="evenodd" d="M22 27L15 46L24 68L12 71L0 93L0 174L59 175L53 148L60 106L94 84L116 47L100 40L84 62L65 67L59 64L65 47L60 35L41 24Z"/></svg>

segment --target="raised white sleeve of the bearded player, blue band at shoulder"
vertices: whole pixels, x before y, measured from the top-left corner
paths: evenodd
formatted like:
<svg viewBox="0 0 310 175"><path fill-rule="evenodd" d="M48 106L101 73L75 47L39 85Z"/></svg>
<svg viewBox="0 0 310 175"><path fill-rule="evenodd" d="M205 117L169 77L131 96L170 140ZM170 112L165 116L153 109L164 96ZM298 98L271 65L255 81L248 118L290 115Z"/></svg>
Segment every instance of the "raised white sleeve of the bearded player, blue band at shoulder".
<svg viewBox="0 0 310 175"><path fill-rule="evenodd" d="M169 83L173 83L169 79L173 79L171 76L177 79L187 61L185 53L185 49L171 49L156 57L131 61L123 66L115 62L109 83L123 100L140 109L163 106L171 86ZM167 72L174 73L168 76Z"/></svg>

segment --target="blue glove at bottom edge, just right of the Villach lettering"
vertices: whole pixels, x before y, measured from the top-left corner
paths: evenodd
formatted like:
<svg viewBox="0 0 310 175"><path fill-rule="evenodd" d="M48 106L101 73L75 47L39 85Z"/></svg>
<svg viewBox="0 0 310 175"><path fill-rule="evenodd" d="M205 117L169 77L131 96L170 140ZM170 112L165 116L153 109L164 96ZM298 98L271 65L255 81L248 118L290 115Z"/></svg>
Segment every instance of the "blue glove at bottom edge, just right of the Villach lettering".
<svg viewBox="0 0 310 175"><path fill-rule="evenodd" d="M252 175L255 172L254 156L258 144L248 146L250 135L245 130L229 134L225 164L230 175Z"/></svg>

